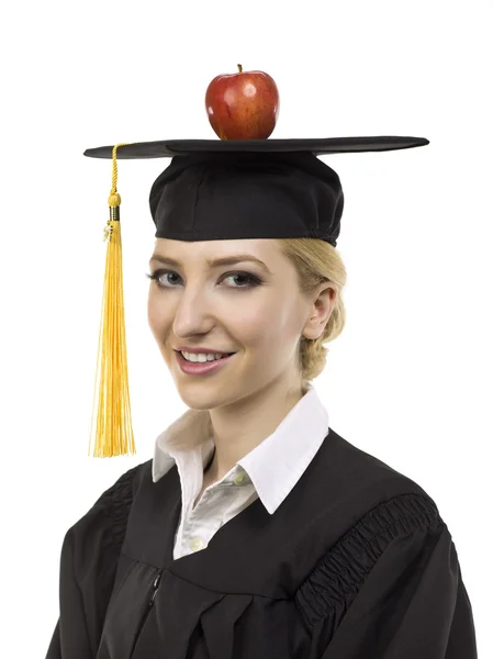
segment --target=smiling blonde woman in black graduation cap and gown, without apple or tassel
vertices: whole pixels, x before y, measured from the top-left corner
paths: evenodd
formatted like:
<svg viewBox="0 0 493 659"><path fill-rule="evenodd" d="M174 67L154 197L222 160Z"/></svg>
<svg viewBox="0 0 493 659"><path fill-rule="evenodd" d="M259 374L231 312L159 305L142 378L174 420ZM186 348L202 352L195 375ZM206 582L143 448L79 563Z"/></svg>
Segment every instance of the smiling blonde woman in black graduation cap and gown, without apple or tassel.
<svg viewBox="0 0 493 659"><path fill-rule="evenodd" d="M180 154L150 191L148 320L189 410L67 533L47 659L477 657L435 502L329 427L311 383L346 282L343 190L314 153L426 143L126 149Z"/></svg>

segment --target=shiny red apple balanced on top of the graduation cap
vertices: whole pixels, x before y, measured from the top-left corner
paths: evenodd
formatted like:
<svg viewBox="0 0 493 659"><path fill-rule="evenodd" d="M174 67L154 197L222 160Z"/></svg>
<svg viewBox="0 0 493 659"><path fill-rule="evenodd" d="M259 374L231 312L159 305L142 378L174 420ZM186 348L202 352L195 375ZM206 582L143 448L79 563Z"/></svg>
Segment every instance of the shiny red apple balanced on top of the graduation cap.
<svg viewBox="0 0 493 659"><path fill-rule="evenodd" d="M221 139L265 139L279 116L279 91L264 71L221 74L209 83L205 110Z"/></svg>

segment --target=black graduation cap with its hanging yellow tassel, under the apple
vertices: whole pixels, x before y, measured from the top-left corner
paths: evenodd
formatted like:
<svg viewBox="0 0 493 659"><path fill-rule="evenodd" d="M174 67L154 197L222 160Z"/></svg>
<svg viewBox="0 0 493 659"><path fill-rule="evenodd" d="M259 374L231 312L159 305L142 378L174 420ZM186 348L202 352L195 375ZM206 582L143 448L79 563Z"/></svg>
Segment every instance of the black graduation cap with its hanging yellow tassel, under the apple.
<svg viewBox="0 0 493 659"><path fill-rule="evenodd" d="M310 237L336 247L344 208L343 188L337 172L316 156L426 144L429 141L424 137L401 136L165 139L86 149L85 156L112 159L110 219L104 228L108 250L93 457L136 453L126 361L117 158L171 158L149 193L157 238Z"/></svg>

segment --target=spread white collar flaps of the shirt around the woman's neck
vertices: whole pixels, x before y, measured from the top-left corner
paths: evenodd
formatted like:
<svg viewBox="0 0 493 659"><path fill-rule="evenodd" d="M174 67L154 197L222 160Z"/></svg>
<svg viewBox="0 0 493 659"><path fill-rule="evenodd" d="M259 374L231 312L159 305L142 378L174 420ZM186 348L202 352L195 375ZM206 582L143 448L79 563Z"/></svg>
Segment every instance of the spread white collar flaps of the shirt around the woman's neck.
<svg viewBox="0 0 493 659"><path fill-rule="evenodd" d="M247 472L270 514L300 480L327 434L327 410L309 383L306 393L276 431L238 460L237 466ZM153 481L158 481L184 454L191 458L190 469L195 465L203 470L213 450L209 411L187 410L156 439Z"/></svg>

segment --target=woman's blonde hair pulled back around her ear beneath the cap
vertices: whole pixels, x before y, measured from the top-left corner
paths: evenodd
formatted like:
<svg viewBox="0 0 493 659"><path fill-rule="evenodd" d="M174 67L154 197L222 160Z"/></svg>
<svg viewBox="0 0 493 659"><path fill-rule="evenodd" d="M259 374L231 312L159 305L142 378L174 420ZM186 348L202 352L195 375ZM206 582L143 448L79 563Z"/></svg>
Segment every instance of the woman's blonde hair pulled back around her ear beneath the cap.
<svg viewBox="0 0 493 659"><path fill-rule="evenodd" d="M347 272L336 248L320 238L276 238L281 252L293 264L300 291L310 294L317 286L326 281L335 290L335 302L330 316L321 336L310 339L300 336L299 369L302 387L316 378L325 368L328 348L323 344L334 340L343 332L346 323L346 310L343 289Z"/></svg>

